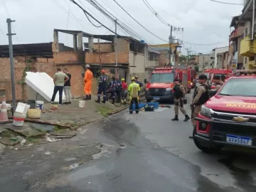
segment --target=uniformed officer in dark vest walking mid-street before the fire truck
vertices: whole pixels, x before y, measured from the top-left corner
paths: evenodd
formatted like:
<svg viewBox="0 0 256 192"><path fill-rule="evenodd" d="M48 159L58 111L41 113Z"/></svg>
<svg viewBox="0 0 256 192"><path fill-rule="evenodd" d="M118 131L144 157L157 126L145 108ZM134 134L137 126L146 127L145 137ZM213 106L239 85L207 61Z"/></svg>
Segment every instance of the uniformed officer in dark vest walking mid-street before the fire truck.
<svg viewBox="0 0 256 192"><path fill-rule="evenodd" d="M175 117L174 119L171 119L172 121L178 121L178 105L181 110L181 112L185 115L184 122L187 122L190 118L188 117L188 114L186 113L186 110L183 107L183 99L186 95L185 88L178 79L174 79L174 112Z"/></svg>

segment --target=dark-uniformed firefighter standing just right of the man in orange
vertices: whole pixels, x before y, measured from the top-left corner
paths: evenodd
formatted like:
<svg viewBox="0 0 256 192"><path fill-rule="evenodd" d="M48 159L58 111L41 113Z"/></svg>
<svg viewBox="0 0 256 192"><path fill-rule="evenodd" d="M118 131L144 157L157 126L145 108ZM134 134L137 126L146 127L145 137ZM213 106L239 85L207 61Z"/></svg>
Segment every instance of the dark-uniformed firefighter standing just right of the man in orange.
<svg viewBox="0 0 256 192"><path fill-rule="evenodd" d="M100 95L103 92L103 100L102 102L105 103L107 100L107 94L106 94L106 90L107 90L107 82L108 82L108 76L105 74L105 70L101 71L100 78L98 80L98 91L97 91L97 100L95 100L95 102L100 103Z"/></svg>

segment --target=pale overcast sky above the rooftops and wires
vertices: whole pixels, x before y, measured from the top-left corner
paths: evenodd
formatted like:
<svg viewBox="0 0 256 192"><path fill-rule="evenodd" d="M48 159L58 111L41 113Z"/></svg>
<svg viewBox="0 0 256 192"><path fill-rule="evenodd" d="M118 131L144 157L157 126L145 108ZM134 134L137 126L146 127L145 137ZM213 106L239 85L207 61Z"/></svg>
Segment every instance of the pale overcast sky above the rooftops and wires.
<svg viewBox="0 0 256 192"><path fill-rule="evenodd" d="M112 21L103 16L92 7L87 0L75 0L85 10L89 11L99 21L114 31ZM94 0L110 11L119 21L136 31L137 38L149 44L166 43L170 28L161 23L156 16L146 7L142 0L116 0L125 10L137 19L146 29L159 38L151 35L142 26L130 18L113 0ZM174 32L175 38L188 43L218 44L215 46L196 46L183 43L183 48L201 53L208 53L216 47L228 46L230 34L230 21L233 16L241 14L242 6L218 4L210 0L147 0L154 10L164 18L164 21L173 26L184 28L183 32ZM219 0L232 3L242 3L243 0ZM6 7L4 6L4 2ZM6 11L6 8L8 12ZM70 14L68 14L70 10ZM53 28L79 30L95 34L112 34L107 29L96 28L87 20L85 14L69 0L0 0L0 44L7 44L8 37L6 18L16 20L13 23L14 43L46 43L53 41ZM92 19L93 21L93 19ZM93 21L97 26L96 21ZM124 32L117 29L119 34ZM125 34L127 35L127 34ZM59 35L60 43L73 46L72 36L63 33ZM85 39L86 41L86 39ZM183 53L185 52L184 49Z"/></svg>

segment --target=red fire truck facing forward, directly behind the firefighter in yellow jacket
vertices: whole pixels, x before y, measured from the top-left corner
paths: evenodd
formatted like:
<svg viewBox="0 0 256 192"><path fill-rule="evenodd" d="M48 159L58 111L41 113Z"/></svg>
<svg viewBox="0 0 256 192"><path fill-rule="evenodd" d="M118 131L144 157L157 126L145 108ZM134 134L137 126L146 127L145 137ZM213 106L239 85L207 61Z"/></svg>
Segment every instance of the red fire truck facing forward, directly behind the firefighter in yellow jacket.
<svg viewBox="0 0 256 192"><path fill-rule="evenodd" d="M144 80L146 83L146 101L166 100L173 103L174 93L172 89L174 87L175 78L180 80L186 92L188 92L188 80L191 80L191 70L188 70L188 68L182 69L181 67L179 69L174 67L155 68L151 73L149 81L146 82L146 80Z"/></svg>

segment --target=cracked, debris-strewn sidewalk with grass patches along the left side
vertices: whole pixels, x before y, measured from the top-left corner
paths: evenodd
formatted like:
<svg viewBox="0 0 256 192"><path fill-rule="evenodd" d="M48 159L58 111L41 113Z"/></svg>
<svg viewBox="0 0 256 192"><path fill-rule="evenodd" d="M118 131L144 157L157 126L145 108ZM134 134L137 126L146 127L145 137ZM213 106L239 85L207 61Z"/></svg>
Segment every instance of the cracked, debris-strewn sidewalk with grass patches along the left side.
<svg viewBox="0 0 256 192"><path fill-rule="evenodd" d="M58 110L50 110L51 104L43 106L40 119L26 119L23 127L12 123L0 124L0 152L6 146L21 149L33 144L56 142L75 137L77 129L107 117L110 112L124 109L125 105L112 105L110 102L97 103L96 97L85 101L85 108L78 107L79 100L71 105L61 105ZM32 121L32 122L29 122ZM80 129L79 129L80 130ZM14 146L14 147L12 147Z"/></svg>

